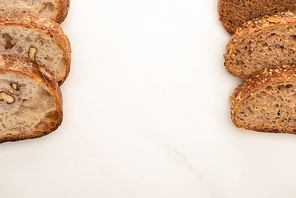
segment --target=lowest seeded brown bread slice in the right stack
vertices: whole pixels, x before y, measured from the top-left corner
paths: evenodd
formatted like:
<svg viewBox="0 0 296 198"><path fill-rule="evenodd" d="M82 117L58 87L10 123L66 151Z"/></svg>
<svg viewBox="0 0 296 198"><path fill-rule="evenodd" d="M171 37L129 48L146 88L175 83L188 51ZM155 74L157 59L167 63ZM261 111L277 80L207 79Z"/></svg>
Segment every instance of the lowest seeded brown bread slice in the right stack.
<svg viewBox="0 0 296 198"><path fill-rule="evenodd" d="M242 129L296 134L296 65L264 69L232 96L231 117Z"/></svg>

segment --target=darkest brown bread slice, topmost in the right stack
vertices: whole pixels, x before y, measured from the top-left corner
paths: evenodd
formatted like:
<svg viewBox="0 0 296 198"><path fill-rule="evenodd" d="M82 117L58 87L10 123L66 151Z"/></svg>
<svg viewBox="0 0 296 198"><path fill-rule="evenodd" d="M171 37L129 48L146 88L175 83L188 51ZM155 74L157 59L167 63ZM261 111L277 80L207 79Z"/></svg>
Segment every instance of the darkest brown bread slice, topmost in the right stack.
<svg viewBox="0 0 296 198"><path fill-rule="evenodd" d="M219 0L219 20L229 34L245 22L278 12L296 10L294 0Z"/></svg>

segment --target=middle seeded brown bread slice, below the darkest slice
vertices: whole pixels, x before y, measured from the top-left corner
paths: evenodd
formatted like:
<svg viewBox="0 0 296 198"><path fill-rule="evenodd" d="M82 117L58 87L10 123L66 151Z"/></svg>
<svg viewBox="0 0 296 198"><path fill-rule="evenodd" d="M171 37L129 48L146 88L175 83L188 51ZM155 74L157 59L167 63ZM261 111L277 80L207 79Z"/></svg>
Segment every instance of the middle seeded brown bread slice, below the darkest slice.
<svg viewBox="0 0 296 198"><path fill-rule="evenodd" d="M296 63L296 11L254 19L230 39L226 70L247 78L264 68Z"/></svg>

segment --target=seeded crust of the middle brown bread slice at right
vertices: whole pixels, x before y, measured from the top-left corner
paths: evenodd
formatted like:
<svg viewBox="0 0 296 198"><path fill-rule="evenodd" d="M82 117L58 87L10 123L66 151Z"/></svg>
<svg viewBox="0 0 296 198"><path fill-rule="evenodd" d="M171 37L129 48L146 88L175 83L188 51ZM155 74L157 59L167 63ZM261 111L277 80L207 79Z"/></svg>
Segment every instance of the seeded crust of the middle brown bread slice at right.
<svg viewBox="0 0 296 198"><path fill-rule="evenodd" d="M280 22L272 22L273 20L271 20L271 18L279 19ZM224 54L224 66L226 67L226 70L233 76L241 78L249 77L240 72L232 71L231 68L229 68L231 56L235 55L237 47L251 34L258 32L259 30L266 30L280 25L296 25L296 11L281 12L273 16L264 16L258 19L253 19L238 28L226 45Z"/></svg>

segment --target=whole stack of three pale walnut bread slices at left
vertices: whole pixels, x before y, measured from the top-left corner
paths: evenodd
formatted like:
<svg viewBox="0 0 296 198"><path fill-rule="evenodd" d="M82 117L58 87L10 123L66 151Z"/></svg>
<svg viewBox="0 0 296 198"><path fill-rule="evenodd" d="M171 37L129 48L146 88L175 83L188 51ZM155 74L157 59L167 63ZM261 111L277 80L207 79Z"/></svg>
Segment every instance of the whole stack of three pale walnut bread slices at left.
<svg viewBox="0 0 296 198"><path fill-rule="evenodd" d="M0 2L0 143L44 136L63 119L69 0Z"/></svg>

